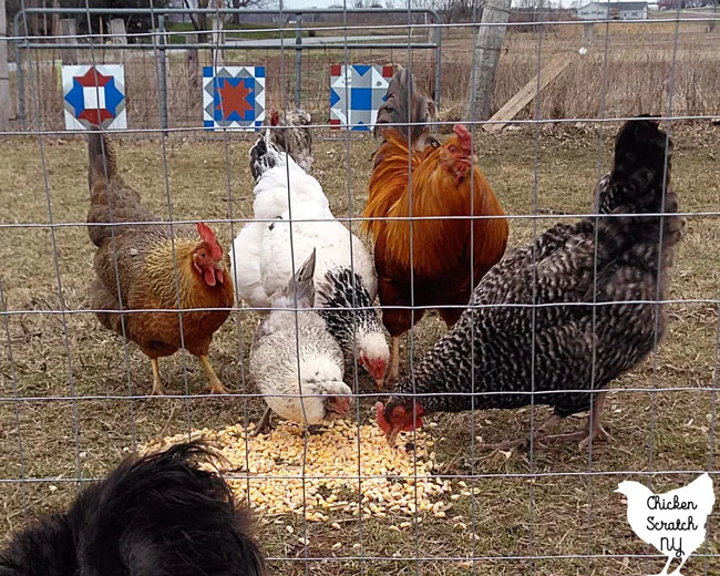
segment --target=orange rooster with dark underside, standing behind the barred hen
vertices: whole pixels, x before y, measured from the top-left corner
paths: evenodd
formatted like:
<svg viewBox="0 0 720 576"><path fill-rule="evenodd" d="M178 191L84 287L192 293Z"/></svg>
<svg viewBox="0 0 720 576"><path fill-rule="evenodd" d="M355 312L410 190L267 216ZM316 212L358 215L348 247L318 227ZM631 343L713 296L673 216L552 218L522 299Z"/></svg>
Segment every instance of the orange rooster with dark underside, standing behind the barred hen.
<svg viewBox="0 0 720 576"><path fill-rule="evenodd" d="M418 119L412 114L392 119L398 123L409 121L418 122ZM415 148L412 153L402 130L387 127L382 135L362 216L413 217L412 244L408 219L363 223L364 230L372 234L376 243L382 320L392 337L389 378L394 380L399 371L400 336L428 309L439 306L455 306L439 309L449 328L457 321L473 288L505 253L507 220L502 217L504 212L476 165L465 126L456 124L454 135L442 146ZM429 216L436 219L415 219ZM415 310L413 313L410 309L384 308L395 306L413 306Z"/></svg>

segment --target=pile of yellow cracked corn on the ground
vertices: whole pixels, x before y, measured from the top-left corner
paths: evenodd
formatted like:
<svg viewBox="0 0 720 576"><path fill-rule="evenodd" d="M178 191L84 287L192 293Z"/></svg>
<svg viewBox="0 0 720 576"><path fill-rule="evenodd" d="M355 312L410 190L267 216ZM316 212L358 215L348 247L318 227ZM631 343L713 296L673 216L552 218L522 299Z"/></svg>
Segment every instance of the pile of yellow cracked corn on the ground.
<svg viewBox="0 0 720 576"><path fill-rule="evenodd" d="M269 434L251 432L253 425L247 434L241 426L203 429L193 438L205 439L227 459L220 471L235 497L245 502L249 491L250 506L261 515L305 513L312 522L328 522L337 511L444 517L451 507L450 482L431 476L434 441L425 432L401 434L394 449L377 425L342 420L309 434L307 445L304 426L294 422L280 422ZM186 440L186 434L165 438L144 450ZM414 446L405 446L410 440Z"/></svg>

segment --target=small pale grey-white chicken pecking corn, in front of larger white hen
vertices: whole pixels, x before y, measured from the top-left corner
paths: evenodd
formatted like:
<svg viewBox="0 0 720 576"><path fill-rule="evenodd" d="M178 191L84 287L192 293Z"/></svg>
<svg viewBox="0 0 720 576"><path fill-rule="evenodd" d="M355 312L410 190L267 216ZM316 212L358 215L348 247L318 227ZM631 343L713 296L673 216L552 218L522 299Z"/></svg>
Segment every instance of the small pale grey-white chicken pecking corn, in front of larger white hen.
<svg viewBox="0 0 720 576"><path fill-rule="evenodd" d="M269 423L270 410L282 418L316 425L347 415L352 391L342 381L342 350L311 308L316 251L272 300L272 310L257 328L250 350L250 374L268 404L257 432Z"/></svg>

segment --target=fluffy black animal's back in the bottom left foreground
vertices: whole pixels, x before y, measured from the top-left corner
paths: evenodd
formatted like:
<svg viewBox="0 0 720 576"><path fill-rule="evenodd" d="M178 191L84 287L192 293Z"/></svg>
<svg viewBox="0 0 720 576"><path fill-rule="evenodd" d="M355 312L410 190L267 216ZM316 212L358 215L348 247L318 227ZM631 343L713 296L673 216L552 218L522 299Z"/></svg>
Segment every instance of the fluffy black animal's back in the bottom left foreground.
<svg viewBox="0 0 720 576"><path fill-rule="evenodd" d="M122 462L0 553L1 576L261 576L251 517L202 444Z"/></svg>

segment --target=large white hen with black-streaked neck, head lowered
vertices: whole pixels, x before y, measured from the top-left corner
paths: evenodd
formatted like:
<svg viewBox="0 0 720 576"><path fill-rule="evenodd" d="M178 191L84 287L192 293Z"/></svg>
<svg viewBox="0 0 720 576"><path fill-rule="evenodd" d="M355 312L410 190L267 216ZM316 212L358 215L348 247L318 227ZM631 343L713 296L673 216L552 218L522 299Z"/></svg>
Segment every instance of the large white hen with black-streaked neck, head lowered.
<svg viewBox="0 0 720 576"><path fill-rule="evenodd" d="M267 135L250 148L250 171L257 179L255 218L266 222L248 223L233 243L238 294L251 307L269 308L272 295L292 277L294 264L297 269L318 248L315 306L322 308L320 313L346 358L357 357L381 383L390 352L372 308L378 294L372 256L335 218L318 181L279 152Z"/></svg>

